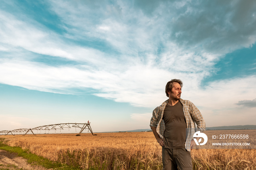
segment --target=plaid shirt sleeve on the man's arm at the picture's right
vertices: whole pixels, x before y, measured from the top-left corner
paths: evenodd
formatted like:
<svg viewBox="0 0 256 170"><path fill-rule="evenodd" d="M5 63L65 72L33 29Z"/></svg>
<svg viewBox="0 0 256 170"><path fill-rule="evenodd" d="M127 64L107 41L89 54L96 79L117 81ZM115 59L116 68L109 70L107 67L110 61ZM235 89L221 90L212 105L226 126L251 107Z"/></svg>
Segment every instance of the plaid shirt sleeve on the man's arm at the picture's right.
<svg viewBox="0 0 256 170"><path fill-rule="evenodd" d="M191 103L191 113L192 113L193 120L197 124L196 131L200 131L200 132L205 131L206 124L205 124L204 118L200 113L199 109L197 109L197 107L193 103Z"/></svg>

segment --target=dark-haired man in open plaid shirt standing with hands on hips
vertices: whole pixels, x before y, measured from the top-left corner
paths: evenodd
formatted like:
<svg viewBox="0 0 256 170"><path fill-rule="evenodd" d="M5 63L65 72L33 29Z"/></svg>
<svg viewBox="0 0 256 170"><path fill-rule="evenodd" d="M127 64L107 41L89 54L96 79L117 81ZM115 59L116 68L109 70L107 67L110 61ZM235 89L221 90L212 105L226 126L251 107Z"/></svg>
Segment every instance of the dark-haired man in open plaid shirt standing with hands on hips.
<svg viewBox="0 0 256 170"><path fill-rule="evenodd" d="M150 127L157 142L162 146L164 170L192 170L191 153L196 131L205 130L203 116L193 103L182 100L182 81L172 79L165 87L168 100L153 111Z"/></svg>

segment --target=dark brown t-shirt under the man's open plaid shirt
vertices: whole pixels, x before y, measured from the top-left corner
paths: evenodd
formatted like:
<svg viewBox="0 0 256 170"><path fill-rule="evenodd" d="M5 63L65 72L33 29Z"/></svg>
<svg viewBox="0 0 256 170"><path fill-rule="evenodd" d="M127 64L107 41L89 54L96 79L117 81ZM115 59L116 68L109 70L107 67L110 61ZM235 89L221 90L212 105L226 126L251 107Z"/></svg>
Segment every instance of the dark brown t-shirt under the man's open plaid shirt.
<svg viewBox="0 0 256 170"><path fill-rule="evenodd" d="M174 106L166 105L163 112L163 121L165 122L165 132L163 134L164 147L185 147L187 124L180 101Z"/></svg>

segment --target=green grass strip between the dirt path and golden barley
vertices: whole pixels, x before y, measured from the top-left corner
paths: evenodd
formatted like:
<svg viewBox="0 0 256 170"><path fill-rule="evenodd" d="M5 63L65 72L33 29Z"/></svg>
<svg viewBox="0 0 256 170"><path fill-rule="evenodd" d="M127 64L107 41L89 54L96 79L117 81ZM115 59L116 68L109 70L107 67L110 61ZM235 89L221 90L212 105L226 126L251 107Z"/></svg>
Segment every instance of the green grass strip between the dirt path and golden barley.
<svg viewBox="0 0 256 170"><path fill-rule="evenodd" d="M19 157L27 159L27 162L32 165L39 165L46 169L61 169L61 170L79 170L79 167L70 167L64 163L53 162L36 154L31 154L28 150L23 150L21 147L11 147L3 143L4 138L0 138L0 149L11 153L17 153Z"/></svg>

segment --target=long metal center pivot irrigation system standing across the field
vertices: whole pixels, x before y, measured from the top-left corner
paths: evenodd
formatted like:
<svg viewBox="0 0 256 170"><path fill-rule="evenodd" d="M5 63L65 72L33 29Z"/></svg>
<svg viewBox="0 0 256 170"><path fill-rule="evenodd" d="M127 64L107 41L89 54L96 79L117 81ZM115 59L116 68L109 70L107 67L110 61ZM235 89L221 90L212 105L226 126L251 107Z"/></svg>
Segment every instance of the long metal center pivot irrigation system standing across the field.
<svg viewBox="0 0 256 170"><path fill-rule="evenodd" d="M11 133L12 135L14 135L13 133L15 132L26 132L24 135L26 135L29 131L32 132L33 135L34 132L33 130L64 130L64 129L67 129L67 128L80 128L80 132L78 135L76 136L80 136L80 134L83 132L83 130L85 129L88 129L88 132L90 131L91 134L93 134L93 131L91 130L91 126L90 126L90 122L88 121L88 123L60 123L60 124L50 124L50 125L44 125L44 126L39 126L39 127L35 127L33 129L15 129L15 130L12 130L12 131L0 131L0 134L5 134L8 135L9 133ZM94 134L93 134L94 135Z"/></svg>

